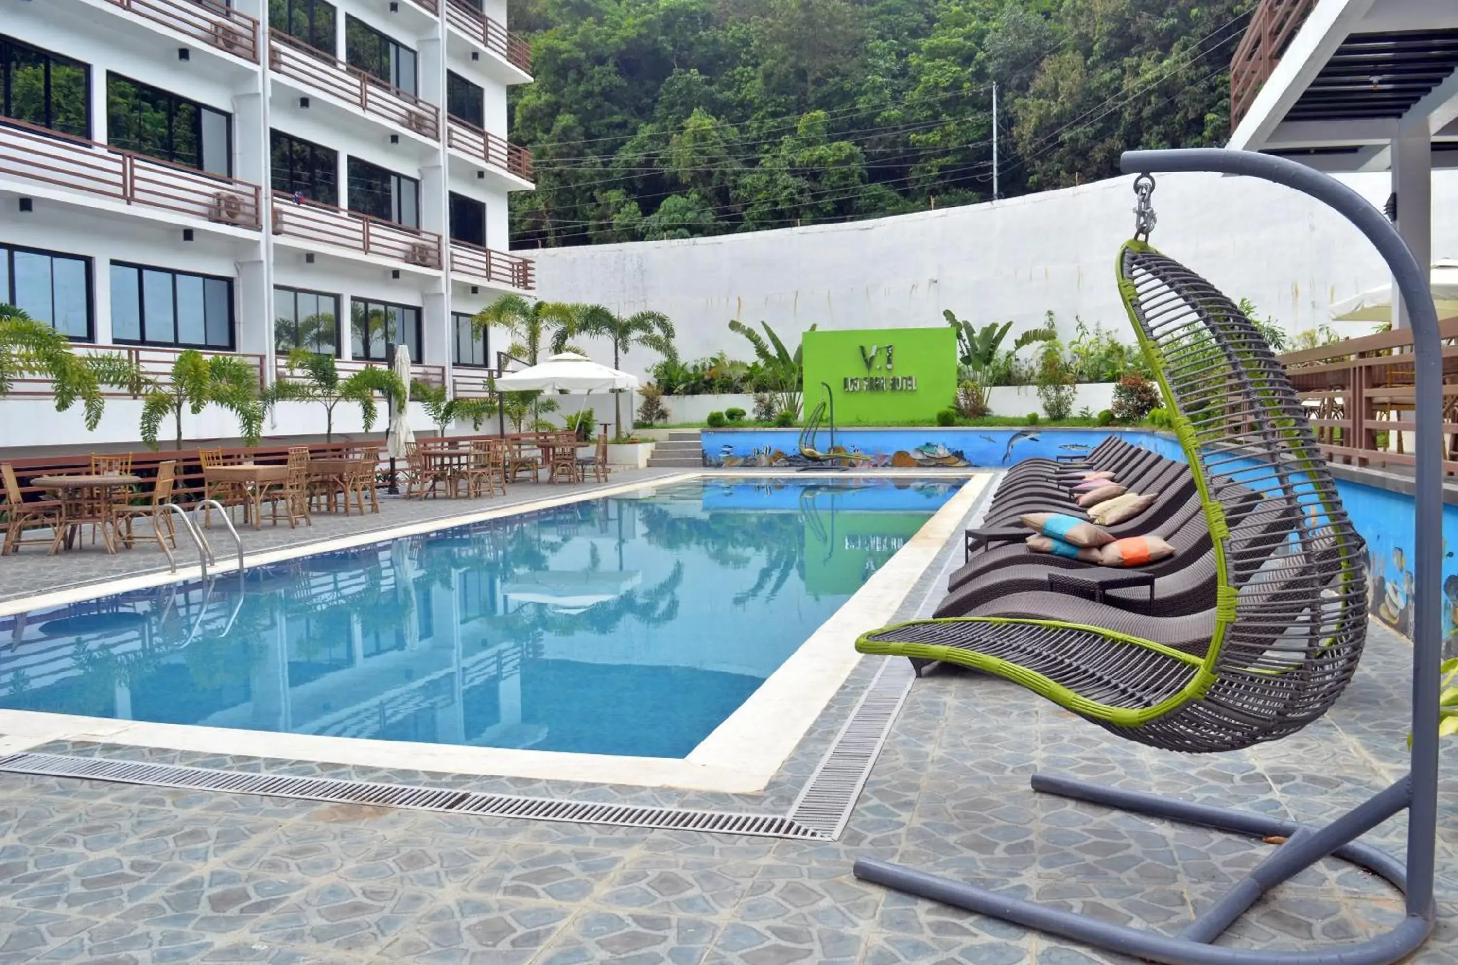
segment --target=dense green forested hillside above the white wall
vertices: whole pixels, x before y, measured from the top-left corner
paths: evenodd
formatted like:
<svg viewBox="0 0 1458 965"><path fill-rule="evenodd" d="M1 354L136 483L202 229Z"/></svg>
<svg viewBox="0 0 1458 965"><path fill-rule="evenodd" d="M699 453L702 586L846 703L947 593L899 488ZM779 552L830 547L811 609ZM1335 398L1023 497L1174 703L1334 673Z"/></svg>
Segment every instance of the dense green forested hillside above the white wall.
<svg viewBox="0 0 1458 965"><path fill-rule="evenodd" d="M1028 194L1220 144L1255 0L512 0L537 82L513 246L688 238Z"/></svg>

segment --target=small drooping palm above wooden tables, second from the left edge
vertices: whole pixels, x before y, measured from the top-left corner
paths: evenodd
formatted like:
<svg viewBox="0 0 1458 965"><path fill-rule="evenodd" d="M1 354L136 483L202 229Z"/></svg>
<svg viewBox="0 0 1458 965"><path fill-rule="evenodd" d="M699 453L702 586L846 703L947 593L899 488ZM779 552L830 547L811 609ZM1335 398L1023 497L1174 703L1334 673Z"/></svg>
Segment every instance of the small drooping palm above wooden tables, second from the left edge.
<svg viewBox="0 0 1458 965"><path fill-rule="evenodd" d="M258 445L264 430L264 402L258 398L258 370L238 356L206 357L187 348L172 362L166 380L152 379L141 395L141 442L157 448L162 420L172 415L175 443L182 448L182 410L194 415L222 405L238 417L243 443Z"/></svg>

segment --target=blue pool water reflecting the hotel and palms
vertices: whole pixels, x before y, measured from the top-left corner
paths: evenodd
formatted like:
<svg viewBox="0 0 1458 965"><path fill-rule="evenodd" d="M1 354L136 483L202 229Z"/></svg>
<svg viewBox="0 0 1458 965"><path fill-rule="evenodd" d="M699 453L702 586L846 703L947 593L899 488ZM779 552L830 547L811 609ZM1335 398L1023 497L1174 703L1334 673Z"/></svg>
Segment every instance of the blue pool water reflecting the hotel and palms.
<svg viewBox="0 0 1458 965"><path fill-rule="evenodd" d="M0 707L681 758L961 484L693 481L29 612Z"/></svg>

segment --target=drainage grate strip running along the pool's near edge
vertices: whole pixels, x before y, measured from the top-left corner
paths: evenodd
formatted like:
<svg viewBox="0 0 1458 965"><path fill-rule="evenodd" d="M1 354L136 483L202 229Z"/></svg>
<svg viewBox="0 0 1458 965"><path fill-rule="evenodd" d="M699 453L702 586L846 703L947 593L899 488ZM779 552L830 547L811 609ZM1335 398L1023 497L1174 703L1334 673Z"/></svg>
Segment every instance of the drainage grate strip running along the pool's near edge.
<svg viewBox="0 0 1458 965"><path fill-rule="evenodd" d="M671 831L716 831L720 834L749 834L773 838L816 840L827 837L816 828L780 815L736 815L717 810L519 797L513 794L487 794L440 787L343 781L332 777L280 777L276 774L223 771L204 767L181 767L176 764L106 761L64 754L13 754L0 758L0 771L117 781L121 784L146 784L149 787L267 794L270 797L293 797L297 800L328 803L442 810L480 815L483 818L526 818L531 821L609 824L627 828L665 828Z"/></svg>

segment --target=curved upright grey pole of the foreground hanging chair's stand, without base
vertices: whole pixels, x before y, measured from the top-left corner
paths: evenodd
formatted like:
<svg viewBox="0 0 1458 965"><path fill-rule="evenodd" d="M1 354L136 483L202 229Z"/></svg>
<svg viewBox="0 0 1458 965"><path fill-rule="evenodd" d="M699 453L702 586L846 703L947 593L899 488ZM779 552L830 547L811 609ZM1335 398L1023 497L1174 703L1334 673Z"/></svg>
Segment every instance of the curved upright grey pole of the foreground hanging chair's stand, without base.
<svg viewBox="0 0 1458 965"><path fill-rule="evenodd" d="M1286 157L1219 147L1130 150L1124 173L1245 175L1308 194L1360 230L1392 271L1413 325L1416 534L1413 539L1413 797L1407 813L1407 913L1433 917L1433 845L1438 832L1438 688L1442 663L1442 345L1427 267L1419 264L1387 216L1336 178Z"/></svg>

